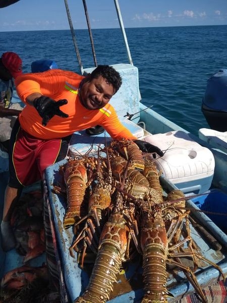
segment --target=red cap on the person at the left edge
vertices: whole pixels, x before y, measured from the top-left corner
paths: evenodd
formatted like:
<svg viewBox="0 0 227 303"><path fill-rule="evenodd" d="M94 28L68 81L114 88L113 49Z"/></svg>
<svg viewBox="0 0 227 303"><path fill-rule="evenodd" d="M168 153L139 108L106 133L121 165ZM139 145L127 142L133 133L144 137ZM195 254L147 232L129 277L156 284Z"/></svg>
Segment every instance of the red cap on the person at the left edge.
<svg viewBox="0 0 227 303"><path fill-rule="evenodd" d="M22 75L22 60L16 53L4 53L2 56L2 63L9 70L14 79Z"/></svg>

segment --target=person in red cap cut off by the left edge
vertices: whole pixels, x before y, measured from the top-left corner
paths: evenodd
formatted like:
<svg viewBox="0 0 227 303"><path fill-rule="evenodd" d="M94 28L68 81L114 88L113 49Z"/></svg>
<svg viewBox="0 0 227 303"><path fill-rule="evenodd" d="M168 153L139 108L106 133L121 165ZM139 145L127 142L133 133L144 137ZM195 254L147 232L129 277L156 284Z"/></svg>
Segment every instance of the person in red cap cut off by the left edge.
<svg viewBox="0 0 227 303"><path fill-rule="evenodd" d="M8 151L13 124L23 109L18 103L12 104L14 81L22 75L22 60L13 52L6 52L0 58L0 142Z"/></svg>

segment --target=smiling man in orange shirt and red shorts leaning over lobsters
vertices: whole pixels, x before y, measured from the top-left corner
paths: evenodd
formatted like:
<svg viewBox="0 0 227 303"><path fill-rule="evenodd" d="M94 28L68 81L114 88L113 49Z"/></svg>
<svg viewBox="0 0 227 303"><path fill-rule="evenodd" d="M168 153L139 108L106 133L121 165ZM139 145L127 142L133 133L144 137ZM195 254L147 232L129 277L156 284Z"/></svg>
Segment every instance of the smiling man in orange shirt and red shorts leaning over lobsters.
<svg viewBox="0 0 227 303"><path fill-rule="evenodd" d="M10 180L1 224L4 250L15 245L10 218L21 189L40 180L47 166L66 157L75 131L100 125L113 139L132 139L142 151L163 156L158 147L137 140L109 104L121 84L120 74L108 65L99 65L86 77L56 69L16 79L26 107L11 135Z"/></svg>

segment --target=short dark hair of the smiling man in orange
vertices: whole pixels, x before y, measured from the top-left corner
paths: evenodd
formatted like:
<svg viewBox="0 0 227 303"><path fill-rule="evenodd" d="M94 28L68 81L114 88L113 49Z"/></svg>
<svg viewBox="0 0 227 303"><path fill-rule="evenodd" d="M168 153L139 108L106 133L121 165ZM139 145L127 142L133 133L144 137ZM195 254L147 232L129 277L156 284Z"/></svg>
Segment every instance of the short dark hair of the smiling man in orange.
<svg viewBox="0 0 227 303"><path fill-rule="evenodd" d="M113 67L109 65L98 65L90 75L90 79L102 76L115 89L115 93L122 85L122 77Z"/></svg>

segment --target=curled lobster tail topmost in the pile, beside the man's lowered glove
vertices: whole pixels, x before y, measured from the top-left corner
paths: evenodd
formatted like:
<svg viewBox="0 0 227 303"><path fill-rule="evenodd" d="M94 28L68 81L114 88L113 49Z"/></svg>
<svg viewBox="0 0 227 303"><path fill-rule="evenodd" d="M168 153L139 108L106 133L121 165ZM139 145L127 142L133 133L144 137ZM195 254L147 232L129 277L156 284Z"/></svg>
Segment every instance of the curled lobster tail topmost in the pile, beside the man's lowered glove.
<svg viewBox="0 0 227 303"><path fill-rule="evenodd" d="M142 151L132 140L112 141L110 148L117 150L125 159L130 160L133 168L144 170Z"/></svg>

